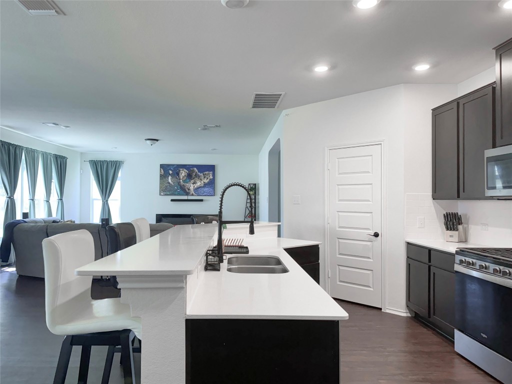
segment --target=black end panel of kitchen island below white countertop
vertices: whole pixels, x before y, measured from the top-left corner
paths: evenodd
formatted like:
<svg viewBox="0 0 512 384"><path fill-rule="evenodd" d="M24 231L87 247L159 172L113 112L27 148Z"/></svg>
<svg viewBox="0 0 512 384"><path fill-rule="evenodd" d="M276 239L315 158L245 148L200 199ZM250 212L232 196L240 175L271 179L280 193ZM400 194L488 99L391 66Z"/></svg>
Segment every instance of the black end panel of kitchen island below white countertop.
<svg viewBox="0 0 512 384"><path fill-rule="evenodd" d="M186 320L187 384L338 384L339 322Z"/></svg>

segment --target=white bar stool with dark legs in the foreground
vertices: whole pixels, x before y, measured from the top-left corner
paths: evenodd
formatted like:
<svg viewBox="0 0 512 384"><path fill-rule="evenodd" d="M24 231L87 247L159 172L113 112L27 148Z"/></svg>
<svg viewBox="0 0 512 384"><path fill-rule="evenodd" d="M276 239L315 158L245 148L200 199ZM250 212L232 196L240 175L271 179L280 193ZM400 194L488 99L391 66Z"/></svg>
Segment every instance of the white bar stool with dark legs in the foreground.
<svg viewBox="0 0 512 384"><path fill-rule="evenodd" d="M121 352L124 383L135 382L132 347L141 338L140 318L131 317L130 306L119 298L93 300L92 276L77 276L76 268L94 261L94 242L85 229L61 233L42 241L45 261L46 325L65 336L54 384L64 384L73 346L81 346L78 382L86 384L92 346L109 346L102 384L109 382L114 352ZM121 346L121 348L117 348Z"/></svg>

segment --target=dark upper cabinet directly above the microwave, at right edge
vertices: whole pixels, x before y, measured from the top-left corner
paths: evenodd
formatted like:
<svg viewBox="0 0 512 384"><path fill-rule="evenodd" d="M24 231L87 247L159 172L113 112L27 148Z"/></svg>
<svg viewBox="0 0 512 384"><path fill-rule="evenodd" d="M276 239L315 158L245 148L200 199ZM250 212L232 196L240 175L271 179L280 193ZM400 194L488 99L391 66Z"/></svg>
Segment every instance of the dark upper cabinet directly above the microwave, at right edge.
<svg viewBox="0 0 512 384"><path fill-rule="evenodd" d="M512 144L512 39L496 50L496 146Z"/></svg>

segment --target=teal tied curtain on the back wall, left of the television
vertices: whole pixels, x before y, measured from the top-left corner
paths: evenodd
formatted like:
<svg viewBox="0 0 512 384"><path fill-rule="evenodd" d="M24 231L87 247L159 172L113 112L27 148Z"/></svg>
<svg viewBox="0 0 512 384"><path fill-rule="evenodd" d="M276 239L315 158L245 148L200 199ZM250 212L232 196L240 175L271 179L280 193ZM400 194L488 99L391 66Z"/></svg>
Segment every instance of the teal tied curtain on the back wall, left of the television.
<svg viewBox="0 0 512 384"><path fill-rule="evenodd" d="M112 222L109 198L116 186L117 176L119 175L122 165L122 161L116 160L89 160L91 173L93 174L102 200L99 215L100 221L101 219L109 218L109 222Z"/></svg>

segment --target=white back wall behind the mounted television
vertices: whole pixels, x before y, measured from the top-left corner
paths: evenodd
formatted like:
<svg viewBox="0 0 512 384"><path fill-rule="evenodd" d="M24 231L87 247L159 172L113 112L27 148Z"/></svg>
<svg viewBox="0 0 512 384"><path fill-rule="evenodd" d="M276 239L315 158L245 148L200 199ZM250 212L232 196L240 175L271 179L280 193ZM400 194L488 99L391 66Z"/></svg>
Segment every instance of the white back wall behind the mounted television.
<svg viewBox="0 0 512 384"><path fill-rule="evenodd" d="M121 168L121 221L145 217L155 222L156 214L217 214L220 193L231 182L258 183L257 155L176 155L83 153L80 163L81 221L91 221L91 168L83 160L123 160ZM170 202L178 196L159 195L160 164L214 164L215 196L203 196L203 202ZM230 188L224 198L224 219L243 220L246 194L242 188Z"/></svg>

